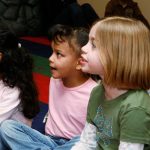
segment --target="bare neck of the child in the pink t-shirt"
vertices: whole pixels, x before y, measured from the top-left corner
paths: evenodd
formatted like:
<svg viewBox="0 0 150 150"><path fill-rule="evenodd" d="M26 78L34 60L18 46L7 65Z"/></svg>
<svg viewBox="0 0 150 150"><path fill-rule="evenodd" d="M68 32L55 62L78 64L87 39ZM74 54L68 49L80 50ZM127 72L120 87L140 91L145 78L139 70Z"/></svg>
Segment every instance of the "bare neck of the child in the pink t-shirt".
<svg viewBox="0 0 150 150"><path fill-rule="evenodd" d="M63 84L65 87L73 88L82 85L89 79L89 76L81 74L79 76L63 78Z"/></svg>

